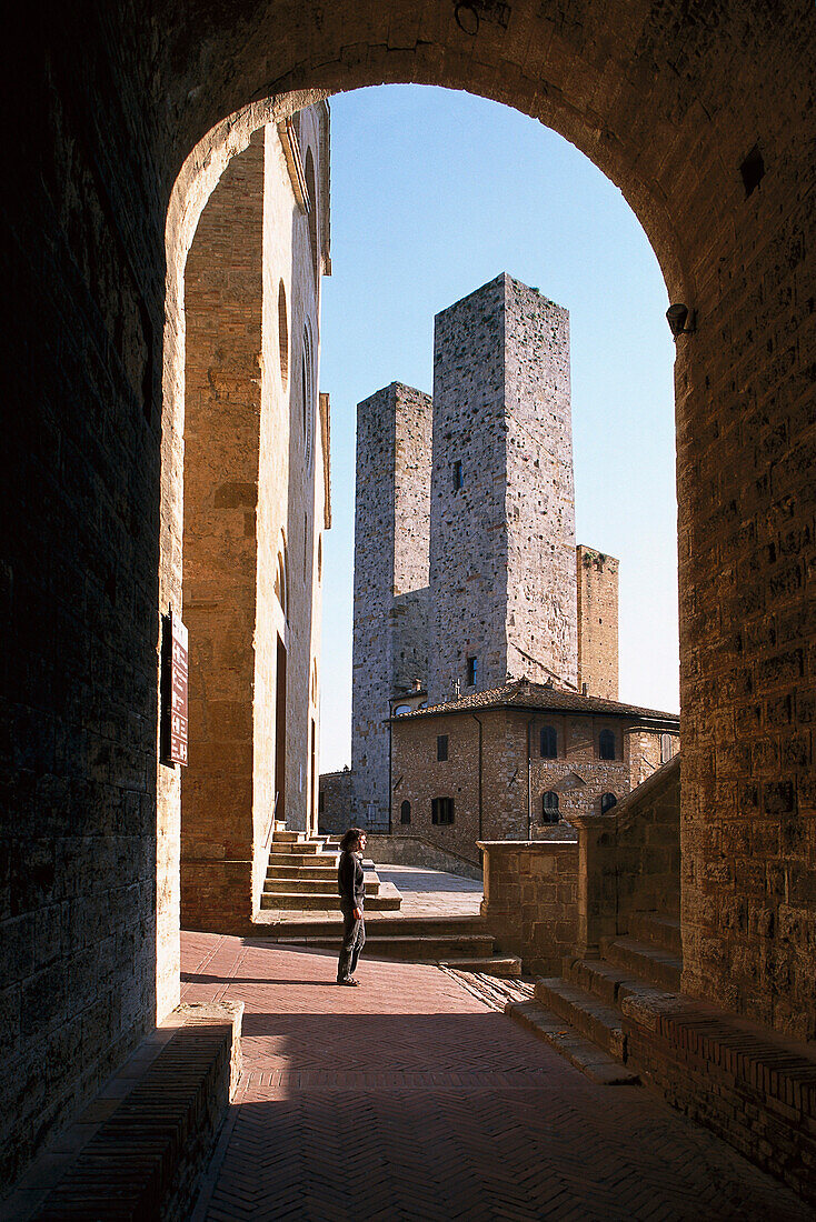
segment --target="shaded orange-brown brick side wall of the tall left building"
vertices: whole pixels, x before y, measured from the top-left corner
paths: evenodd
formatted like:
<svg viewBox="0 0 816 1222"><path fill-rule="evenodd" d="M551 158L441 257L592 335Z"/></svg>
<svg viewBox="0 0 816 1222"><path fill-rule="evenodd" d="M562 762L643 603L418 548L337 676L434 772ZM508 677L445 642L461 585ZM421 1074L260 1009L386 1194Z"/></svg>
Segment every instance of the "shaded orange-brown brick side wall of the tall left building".
<svg viewBox="0 0 816 1222"><path fill-rule="evenodd" d="M262 131L210 196L185 274L181 915L193 927L204 914L220 923L252 903L263 180Z"/></svg>

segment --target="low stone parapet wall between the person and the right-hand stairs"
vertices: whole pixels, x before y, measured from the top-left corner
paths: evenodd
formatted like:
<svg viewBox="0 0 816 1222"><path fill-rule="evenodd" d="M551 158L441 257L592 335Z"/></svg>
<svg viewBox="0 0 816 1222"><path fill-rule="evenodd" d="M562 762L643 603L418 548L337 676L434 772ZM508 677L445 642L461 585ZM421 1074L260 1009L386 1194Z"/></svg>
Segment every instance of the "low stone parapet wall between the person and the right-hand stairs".
<svg viewBox="0 0 816 1222"><path fill-rule="evenodd" d="M524 970L560 970L577 938L579 847L575 841L480 841L482 915L502 951Z"/></svg>

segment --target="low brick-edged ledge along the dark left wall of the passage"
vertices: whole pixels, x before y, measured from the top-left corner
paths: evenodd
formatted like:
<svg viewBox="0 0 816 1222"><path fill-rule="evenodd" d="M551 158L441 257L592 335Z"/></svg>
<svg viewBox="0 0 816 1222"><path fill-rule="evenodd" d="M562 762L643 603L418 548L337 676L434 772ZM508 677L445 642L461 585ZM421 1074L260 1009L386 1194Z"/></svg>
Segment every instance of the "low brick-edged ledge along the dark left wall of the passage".
<svg viewBox="0 0 816 1222"><path fill-rule="evenodd" d="M242 1002L180 1006L31 1167L0 1218L186 1213L241 1072Z"/></svg>

